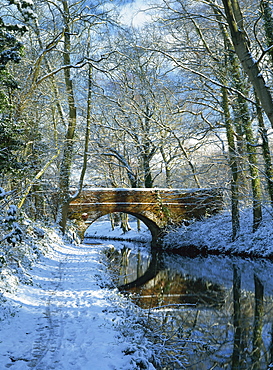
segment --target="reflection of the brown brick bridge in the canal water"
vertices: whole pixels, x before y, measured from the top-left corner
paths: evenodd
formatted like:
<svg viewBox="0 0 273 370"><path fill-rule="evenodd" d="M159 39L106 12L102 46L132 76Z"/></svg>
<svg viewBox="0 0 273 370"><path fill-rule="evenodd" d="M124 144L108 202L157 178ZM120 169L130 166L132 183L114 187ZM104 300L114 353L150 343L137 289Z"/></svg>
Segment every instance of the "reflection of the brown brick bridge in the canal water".
<svg viewBox="0 0 273 370"><path fill-rule="evenodd" d="M134 254L130 252L127 248L112 252L116 254L115 263L120 273L118 288L123 293L133 294L131 299L140 307L148 309L166 305L174 306L173 308L180 305L207 308L223 306L226 297L223 286L172 271L165 265L164 255L158 250L152 250L146 270L127 282L127 279L130 280L134 275L132 269L138 270L138 260L136 261ZM140 264L142 263L143 261L140 261Z"/></svg>

